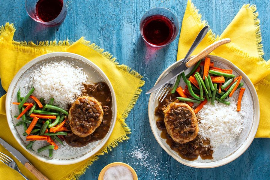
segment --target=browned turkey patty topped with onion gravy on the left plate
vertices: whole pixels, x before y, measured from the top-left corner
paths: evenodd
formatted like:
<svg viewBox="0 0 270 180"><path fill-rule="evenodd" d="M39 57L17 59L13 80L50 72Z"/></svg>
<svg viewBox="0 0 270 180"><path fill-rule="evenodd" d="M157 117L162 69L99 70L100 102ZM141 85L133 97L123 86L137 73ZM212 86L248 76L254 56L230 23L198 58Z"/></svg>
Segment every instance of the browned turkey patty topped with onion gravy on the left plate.
<svg viewBox="0 0 270 180"><path fill-rule="evenodd" d="M71 131L79 137L92 134L100 126L102 118L101 104L89 96L77 98L68 113Z"/></svg>

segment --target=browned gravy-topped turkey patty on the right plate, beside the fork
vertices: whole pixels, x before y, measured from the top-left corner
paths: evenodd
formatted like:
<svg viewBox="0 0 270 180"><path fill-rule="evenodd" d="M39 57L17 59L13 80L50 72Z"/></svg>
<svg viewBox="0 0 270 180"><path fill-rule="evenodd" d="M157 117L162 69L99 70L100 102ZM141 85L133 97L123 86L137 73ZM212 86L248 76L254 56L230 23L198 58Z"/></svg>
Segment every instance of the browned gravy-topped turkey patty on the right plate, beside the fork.
<svg viewBox="0 0 270 180"><path fill-rule="evenodd" d="M178 143L195 139L199 127L196 115L188 104L173 102L164 110L164 123L168 134Z"/></svg>

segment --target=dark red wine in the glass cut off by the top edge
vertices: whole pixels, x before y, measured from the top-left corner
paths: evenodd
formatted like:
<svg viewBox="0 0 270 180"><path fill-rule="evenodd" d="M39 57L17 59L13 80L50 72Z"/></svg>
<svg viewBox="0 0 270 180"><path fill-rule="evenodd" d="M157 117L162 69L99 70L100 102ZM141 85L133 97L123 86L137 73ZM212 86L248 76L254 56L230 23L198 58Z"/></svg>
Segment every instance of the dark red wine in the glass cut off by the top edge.
<svg viewBox="0 0 270 180"><path fill-rule="evenodd" d="M36 4L36 13L43 22L55 19L61 12L63 0L39 0Z"/></svg>

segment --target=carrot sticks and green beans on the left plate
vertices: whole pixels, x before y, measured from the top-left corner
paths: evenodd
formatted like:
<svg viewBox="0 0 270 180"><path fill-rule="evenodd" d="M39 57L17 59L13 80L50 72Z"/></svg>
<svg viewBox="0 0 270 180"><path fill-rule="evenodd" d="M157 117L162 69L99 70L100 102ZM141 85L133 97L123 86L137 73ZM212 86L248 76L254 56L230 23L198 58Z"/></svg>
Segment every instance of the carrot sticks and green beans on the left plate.
<svg viewBox="0 0 270 180"><path fill-rule="evenodd" d="M56 141L63 145L64 136L69 131L65 126L68 112L55 105L54 99L49 100L49 104L44 104L44 99L33 96L35 88L32 88L25 97L21 97L20 89L17 92L17 102L19 115L14 118L21 119L15 126L23 125L26 141L29 144L27 149L31 148L35 141L47 141L48 145L38 149L38 152L48 150L49 157L52 157L52 151L57 150ZM32 99L31 102L26 102Z"/></svg>

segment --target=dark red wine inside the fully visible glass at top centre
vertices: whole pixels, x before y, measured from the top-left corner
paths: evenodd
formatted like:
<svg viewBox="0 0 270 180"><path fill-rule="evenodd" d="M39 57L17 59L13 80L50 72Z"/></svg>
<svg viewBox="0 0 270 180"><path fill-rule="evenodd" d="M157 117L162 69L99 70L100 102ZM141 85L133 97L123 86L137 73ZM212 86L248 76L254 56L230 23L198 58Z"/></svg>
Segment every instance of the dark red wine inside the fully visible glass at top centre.
<svg viewBox="0 0 270 180"><path fill-rule="evenodd" d="M144 20L142 27L143 37L147 42L162 46L170 42L175 33L175 26L165 16L154 15Z"/></svg>

